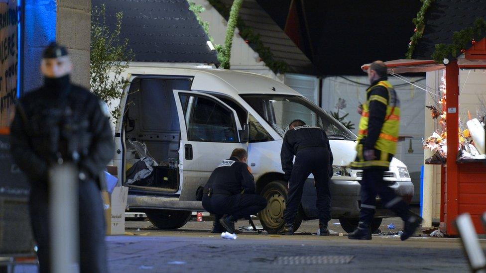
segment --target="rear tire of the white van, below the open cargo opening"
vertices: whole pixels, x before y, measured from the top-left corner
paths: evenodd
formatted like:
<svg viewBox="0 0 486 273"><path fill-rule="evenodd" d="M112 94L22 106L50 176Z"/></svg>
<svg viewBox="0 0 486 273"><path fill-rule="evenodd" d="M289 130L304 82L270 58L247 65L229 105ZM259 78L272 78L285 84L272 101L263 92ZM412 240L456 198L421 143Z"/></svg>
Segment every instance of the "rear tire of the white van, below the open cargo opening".
<svg viewBox="0 0 486 273"><path fill-rule="evenodd" d="M149 209L145 214L158 229L170 230L183 227L191 219L192 211Z"/></svg>

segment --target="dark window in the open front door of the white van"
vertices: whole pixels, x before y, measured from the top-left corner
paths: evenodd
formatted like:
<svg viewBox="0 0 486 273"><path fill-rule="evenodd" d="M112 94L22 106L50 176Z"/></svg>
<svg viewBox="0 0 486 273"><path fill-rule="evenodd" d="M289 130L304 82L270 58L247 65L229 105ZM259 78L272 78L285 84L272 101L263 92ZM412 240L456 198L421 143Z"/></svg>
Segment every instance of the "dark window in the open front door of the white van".
<svg viewBox="0 0 486 273"><path fill-rule="evenodd" d="M219 102L200 96L180 95L189 141L238 142L233 112Z"/></svg>

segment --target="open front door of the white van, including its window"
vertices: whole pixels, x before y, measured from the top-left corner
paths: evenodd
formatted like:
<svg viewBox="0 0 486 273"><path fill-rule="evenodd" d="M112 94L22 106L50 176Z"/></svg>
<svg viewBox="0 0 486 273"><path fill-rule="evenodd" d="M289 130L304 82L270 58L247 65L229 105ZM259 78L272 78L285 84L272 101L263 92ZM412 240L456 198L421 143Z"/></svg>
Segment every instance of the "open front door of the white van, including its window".
<svg viewBox="0 0 486 273"><path fill-rule="evenodd" d="M236 148L247 149L247 128L242 128L233 108L212 95L174 90L174 98L181 129L179 200L192 201L197 187L208 181L221 161Z"/></svg>

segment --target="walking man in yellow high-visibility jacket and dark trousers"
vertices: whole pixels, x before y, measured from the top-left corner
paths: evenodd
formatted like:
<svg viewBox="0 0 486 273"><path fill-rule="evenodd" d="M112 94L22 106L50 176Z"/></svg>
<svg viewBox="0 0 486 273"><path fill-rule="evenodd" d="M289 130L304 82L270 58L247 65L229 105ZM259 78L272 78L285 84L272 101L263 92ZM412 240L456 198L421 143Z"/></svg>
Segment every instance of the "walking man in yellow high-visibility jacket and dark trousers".
<svg viewBox="0 0 486 273"><path fill-rule="evenodd" d="M370 224L376 210L376 195L383 205L391 209L405 222L401 240L413 235L422 218L410 214L408 204L383 182L396 152L400 127L400 100L387 81L387 68L381 61L368 68L366 102L361 106L356 160L351 168L363 170L361 181L361 211L358 228L348 235L349 239L371 240Z"/></svg>

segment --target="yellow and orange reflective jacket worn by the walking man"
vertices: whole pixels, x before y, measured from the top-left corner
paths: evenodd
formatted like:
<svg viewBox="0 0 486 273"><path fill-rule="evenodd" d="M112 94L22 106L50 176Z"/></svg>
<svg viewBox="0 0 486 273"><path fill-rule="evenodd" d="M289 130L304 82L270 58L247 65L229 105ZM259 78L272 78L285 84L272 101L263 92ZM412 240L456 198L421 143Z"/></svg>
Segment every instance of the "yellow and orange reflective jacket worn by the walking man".
<svg viewBox="0 0 486 273"><path fill-rule="evenodd" d="M353 169L365 169L369 167L388 168L390 166L391 158L396 153L396 142L398 141L400 127L400 101L395 90L388 81L379 81L377 84L369 87L366 90L366 93L369 94L369 92L377 86L386 88L388 91L388 98L371 94L368 95L368 99L363 105L363 112L358 131L358 145L356 146L358 155L356 160L351 163ZM379 137L374 144L376 159L365 161L363 156L363 143L368 134L369 103L372 100L377 100L386 105L386 115Z"/></svg>

